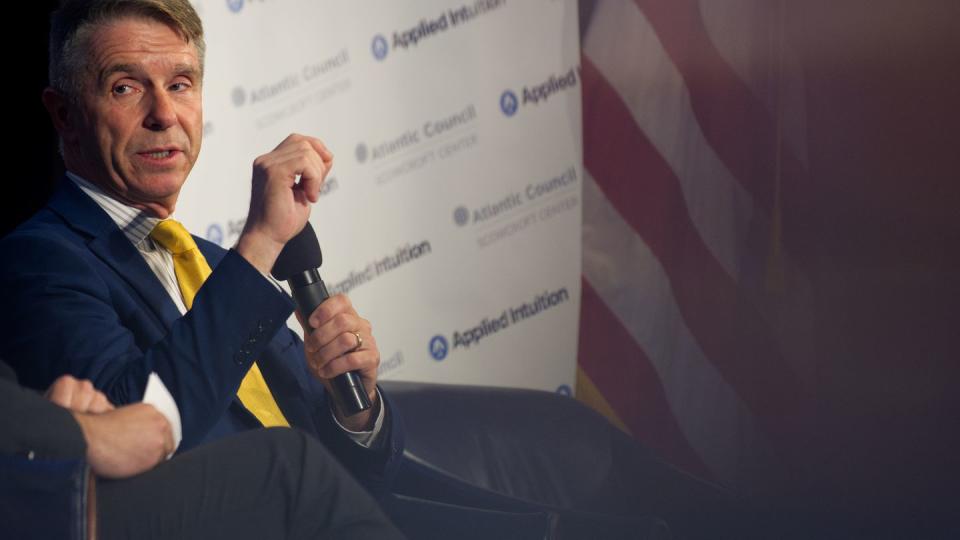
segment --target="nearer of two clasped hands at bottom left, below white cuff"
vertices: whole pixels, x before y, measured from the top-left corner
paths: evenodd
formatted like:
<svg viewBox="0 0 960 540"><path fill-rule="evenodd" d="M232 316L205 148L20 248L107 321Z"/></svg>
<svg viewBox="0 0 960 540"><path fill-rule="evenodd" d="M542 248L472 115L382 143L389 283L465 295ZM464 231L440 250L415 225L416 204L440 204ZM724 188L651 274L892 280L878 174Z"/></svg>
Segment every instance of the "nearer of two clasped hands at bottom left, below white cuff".
<svg viewBox="0 0 960 540"><path fill-rule="evenodd" d="M153 405L135 403L101 414L73 412L87 440L87 463L106 478L153 468L173 452L170 423Z"/></svg>

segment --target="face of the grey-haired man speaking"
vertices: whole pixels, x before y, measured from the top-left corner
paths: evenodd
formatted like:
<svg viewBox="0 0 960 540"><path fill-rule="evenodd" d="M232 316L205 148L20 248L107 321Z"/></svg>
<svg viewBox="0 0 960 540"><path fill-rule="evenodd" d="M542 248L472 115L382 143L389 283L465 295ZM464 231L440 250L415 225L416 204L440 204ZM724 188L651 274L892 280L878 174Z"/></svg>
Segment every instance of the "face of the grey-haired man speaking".
<svg viewBox="0 0 960 540"><path fill-rule="evenodd" d="M165 24L139 18L104 24L89 45L76 137L65 138L67 168L166 217L200 153L197 49Z"/></svg>

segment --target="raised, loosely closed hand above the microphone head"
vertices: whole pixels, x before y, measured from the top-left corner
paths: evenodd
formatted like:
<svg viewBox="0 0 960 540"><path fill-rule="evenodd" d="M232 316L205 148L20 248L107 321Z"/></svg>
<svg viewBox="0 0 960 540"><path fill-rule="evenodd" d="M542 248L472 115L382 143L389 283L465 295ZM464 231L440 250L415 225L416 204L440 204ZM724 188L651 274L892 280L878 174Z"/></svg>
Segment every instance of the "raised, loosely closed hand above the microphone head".
<svg viewBox="0 0 960 540"><path fill-rule="evenodd" d="M297 134L253 162L250 211L237 252L261 273L270 273L280 250L303 229L331 166L333 154L319 139Z"/></svg>

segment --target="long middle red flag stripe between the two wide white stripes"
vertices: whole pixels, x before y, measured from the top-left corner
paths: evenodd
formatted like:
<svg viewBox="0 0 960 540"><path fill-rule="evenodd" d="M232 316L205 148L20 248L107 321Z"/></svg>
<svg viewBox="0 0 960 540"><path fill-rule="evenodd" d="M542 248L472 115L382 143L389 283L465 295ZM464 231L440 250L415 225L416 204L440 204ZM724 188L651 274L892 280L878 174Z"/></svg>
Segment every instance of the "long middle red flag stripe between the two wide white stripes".
<svg viewBox="0 0 960 540"><path fill-rule="evenodd" d="M809 403L772 333L690 220L680 182L587 57L584 164L663 265L680 313L724 379L784 453L800 451Z"/></svg>

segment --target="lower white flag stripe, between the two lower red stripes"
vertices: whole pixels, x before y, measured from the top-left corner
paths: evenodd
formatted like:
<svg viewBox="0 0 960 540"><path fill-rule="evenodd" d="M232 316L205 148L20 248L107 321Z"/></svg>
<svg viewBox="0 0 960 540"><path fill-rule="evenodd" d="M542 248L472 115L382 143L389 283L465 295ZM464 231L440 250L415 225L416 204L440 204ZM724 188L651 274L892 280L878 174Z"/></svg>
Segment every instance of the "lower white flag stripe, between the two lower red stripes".
<svg viewBox="0 0 960 540"><path fill-rule="evenodd" d="M770 458L746 405L684 323L660 262L589 173L583 182L583 275L646 352L691 447L718 480Z"/></svg>

